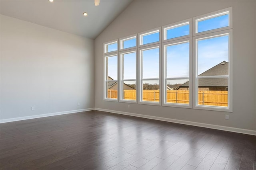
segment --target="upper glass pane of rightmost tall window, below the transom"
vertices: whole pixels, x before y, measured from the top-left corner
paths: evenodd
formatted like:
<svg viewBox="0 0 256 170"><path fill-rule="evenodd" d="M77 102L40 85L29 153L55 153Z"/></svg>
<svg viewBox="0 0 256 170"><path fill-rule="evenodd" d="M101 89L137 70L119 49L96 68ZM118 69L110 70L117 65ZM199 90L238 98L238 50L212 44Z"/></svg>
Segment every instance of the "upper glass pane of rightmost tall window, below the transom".
<svg viewBox="0 0 256 170"><path fill-rule="evenodd" d="M228 35L198 41L198 76L228 75L228 43Z"/></svg>

